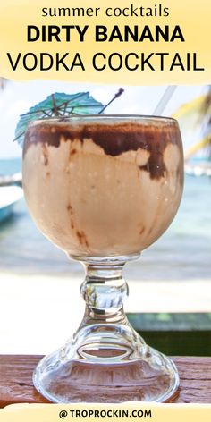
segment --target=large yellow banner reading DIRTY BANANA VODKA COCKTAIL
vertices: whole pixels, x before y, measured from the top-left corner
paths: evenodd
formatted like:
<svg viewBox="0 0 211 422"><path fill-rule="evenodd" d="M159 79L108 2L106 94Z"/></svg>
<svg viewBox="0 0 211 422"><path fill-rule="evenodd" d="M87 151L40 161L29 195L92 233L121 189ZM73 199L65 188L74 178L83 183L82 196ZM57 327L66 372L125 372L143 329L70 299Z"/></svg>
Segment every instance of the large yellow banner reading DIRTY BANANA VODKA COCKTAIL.
<svg viewBox="0 0 211 422"><path fill-rule="evenodd" d="M210 0L7 0L0 5L0 75L209 83L210 16Z"/></svg>

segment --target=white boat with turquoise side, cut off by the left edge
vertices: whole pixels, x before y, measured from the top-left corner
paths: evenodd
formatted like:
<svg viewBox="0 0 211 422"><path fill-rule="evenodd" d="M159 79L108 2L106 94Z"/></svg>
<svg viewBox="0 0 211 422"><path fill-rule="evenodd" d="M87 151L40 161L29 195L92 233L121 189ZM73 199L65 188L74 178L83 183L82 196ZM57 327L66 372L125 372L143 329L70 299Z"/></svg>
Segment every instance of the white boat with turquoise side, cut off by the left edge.
<svg viewBox="0 0 211 422"><path fill-rule="evenodd" d="M13 215L13 207L23 197L20 186L0 187L0 223Z"/></svg>

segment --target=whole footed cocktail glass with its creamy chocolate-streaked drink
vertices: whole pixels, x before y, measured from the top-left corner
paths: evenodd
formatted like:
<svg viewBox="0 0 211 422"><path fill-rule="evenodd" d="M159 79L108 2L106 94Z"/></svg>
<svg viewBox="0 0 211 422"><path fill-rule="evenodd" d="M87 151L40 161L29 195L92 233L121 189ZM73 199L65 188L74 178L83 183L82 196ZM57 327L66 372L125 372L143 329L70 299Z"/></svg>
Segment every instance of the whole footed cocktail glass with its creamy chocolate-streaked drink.
<svg viewBox="0 0 211 422"><path fill-rule="evenodd" d="M171 224L183 156L175 120L72 116L30 123L23 188L38 228L86 269L80 327L38 363L33 381L55 402L168 401L179 376L123 310L124 264Z"/></svg>

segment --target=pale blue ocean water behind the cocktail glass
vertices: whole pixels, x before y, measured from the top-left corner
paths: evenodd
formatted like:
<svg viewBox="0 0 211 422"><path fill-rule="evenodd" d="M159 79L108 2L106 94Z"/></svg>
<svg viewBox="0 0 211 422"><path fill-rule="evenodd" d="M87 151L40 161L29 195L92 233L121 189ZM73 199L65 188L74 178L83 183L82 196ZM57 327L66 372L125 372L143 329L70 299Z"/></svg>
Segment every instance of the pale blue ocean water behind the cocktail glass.
<svg viewBox="0 0 211 422"><path fill-rule="evenodd" d="M21 171L21 159L0 160L0 173ZM38 232L22 199L13 216L0 224L0 273L83 273L79 263ZM181 207L173 224L138 261L126 266L127 279L210 280L211 279L211 179L186 176Z"/></svg>

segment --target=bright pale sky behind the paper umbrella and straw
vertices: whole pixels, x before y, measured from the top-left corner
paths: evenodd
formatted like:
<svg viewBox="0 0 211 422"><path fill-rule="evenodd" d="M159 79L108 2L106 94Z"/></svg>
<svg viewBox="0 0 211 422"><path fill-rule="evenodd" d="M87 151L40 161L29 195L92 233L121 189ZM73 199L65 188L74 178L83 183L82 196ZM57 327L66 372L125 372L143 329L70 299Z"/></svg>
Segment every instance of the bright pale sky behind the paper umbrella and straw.
<svg viewBox="0 0 211 422"><path fill-rule="evenodd" d="M30 82L10 81L0 92L0 158L21 156L21 148L13 142L14 131L20 114L26 113L30 106L36 105L54 92L72 94L89 91L102 103L107 103L120 86L79 84L52 80L32 80ZM166 87L124 86L124 93L107 108L109 114L153 114ZM172 115L182 104L198 97L203 92L201 86L179 86L165 108L164 114Z"/></svg>

